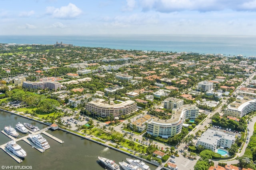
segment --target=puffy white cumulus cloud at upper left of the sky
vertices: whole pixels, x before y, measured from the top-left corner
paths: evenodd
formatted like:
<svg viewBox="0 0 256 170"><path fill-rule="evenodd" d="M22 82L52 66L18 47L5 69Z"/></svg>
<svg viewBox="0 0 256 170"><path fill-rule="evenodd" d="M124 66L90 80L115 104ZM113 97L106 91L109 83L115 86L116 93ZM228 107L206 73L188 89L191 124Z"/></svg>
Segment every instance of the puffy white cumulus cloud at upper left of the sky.
<svg viewBox="0 0 256 170"><path fill-rule="evenodd" d="M62 6L60 8L48 6L46 7L46 14L51 15L53 18L72 19L80 16L82 14L82 10L80 10L76 5L69 3L68 6Z"/></svg>

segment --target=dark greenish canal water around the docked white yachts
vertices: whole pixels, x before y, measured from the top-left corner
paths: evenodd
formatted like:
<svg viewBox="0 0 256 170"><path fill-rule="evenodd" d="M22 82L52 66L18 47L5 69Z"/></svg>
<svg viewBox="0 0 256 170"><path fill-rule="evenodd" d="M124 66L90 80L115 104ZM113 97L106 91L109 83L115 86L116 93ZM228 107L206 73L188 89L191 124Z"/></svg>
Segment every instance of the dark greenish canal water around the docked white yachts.
<svg viewBox="0 0 256 170"><path fill-rule="evenodd" d="M0 129L11 125L15 127L16 123L28 122L38 126L40 129L47 127L42 123L32 121L12 113L0 111ZM104 147L87 139L72 135L70 133L56 130L47 131L64 141L63 144L54 141L50 137L42 134L50 145L50 149L41 153L32 148L24 141L18 141L18 145L27 152L26 158L20 164L0 149L0 166L31 166L32 170L104 170L98 161L98 156L109 158L115 162L122 162L131 156L118 152L116 150ZM20 133L20 136L24 136ZM10 141L6 135L0 133L0 145ZM147 163L151 170L155 170L156 166ZM29 167L27 167L29 168ZM18 169L18 168L17 168ZM24 167L23 167L24 169Z"/></svg>

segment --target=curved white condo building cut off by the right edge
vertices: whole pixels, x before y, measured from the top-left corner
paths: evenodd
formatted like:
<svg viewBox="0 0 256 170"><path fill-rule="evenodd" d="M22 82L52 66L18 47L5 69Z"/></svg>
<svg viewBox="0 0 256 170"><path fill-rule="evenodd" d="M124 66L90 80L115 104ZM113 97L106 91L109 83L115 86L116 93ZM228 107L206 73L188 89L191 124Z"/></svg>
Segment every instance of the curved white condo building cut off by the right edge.
<svg viewBox="0 0 256 170"><path fill-rule="evenodd" d="M256 99L251 99L246 96L238 96L236 101L226 107L224 115L243 117L254 110L256 110Z"/></svg>

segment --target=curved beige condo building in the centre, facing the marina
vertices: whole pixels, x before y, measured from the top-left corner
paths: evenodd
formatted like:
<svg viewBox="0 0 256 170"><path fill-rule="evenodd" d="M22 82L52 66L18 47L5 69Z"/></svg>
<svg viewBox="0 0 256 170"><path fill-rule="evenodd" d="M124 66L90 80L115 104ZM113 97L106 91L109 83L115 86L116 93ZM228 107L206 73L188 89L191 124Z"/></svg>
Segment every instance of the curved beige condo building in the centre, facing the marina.
<svg viewBox="0 0 256 170"><path fill-rule="evenodd" d="M130 113L136 111L137 108L137 103L132 100L127 100L118 104L111 102L110 104L107 104L107 102L108 101L97 99L95 101L88 102L85 109L100 117L120 117L121 115L129 115Z"/></svg>

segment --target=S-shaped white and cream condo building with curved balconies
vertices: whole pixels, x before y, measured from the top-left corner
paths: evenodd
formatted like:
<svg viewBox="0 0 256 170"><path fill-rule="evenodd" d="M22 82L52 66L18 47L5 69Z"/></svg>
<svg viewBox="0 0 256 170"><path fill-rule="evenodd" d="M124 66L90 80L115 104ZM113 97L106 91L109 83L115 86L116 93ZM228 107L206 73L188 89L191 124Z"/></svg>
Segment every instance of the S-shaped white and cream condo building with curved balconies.
<svg viewBox="0 0 256 170"><path fill-rule="evenodd" d="M172 110L171 119L153 119L148 122L147 133L153 136L161 136L162 138L172 137L181 132L182 124L185 119L196 119L199 109L195 105L184 105L179 109Z"/></svg>

